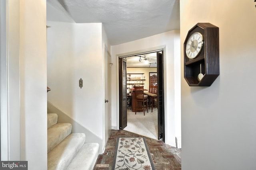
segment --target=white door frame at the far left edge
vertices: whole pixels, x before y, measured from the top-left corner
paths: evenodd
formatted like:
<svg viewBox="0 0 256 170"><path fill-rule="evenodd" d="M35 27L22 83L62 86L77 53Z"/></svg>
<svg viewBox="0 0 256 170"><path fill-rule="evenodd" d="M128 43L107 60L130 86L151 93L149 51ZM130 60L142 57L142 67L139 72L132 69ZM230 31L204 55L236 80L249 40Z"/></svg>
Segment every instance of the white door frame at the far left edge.
<svg viewBox="0 0 256 170"><path fill-rule="evenodd" d="M20 160L21 157L19 18L19 2L13 4L8 0L0 0L1 160Z"/></svg>

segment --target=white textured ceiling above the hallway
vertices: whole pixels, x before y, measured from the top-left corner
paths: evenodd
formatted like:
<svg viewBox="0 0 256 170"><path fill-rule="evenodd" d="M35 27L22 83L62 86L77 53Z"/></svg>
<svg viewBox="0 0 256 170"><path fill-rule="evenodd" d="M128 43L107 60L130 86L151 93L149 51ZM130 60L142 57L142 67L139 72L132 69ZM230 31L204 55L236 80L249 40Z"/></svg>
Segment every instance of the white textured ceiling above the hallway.
<svg viewBox="0 0 256 170"><path fill-rule="evenodd" d="M76 23L103 23L110 45L180 29L180 0L58 0L58 2Z"/></svg>

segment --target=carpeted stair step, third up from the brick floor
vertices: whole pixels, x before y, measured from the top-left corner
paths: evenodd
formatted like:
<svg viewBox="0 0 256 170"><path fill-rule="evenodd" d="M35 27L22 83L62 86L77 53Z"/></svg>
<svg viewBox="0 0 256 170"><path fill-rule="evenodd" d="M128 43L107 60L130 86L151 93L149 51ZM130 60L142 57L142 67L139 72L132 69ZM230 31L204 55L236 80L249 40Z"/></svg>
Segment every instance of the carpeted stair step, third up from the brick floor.
<svg viewBox="0 0 256 170"><path fill-rule="evenodd" d="M65 139L72 130L70 123L57 123L47 130L47 153Z"/></svg>

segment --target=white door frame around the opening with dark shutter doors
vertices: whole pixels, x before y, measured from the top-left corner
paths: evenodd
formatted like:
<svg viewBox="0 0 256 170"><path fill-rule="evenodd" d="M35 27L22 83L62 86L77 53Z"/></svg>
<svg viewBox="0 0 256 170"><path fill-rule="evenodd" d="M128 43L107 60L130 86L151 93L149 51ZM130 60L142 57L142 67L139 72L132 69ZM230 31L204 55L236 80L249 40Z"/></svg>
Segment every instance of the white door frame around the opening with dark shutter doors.
<svg viewBox="0 0 256 170"><path fill-rule="evenodd" d="M140 50L140 51L134 51L134 52L130 52L130 53L124 53L124 54L120 54L120 55L116 55L117 56L117 61L119 61L119 59L120 58L125 58L125 57L131 57L131 56L134 56L134 55L143 55L143 54L145 54L145 53L154 53L154 52L160 52L160 51L162 51L162 55L163 55L163 57L162 57L162 59L164 60L164 58L166 57L166 46L165 45L163 45L163 46L160 46L160 47L155 47L155 48L151 48L151 49L144 49L144 50ZM117 62L118 64L119 64L119 62ZM162 74L163 75L166 75L166 73L164 73L164 67L165 67L165 64L163 63L162 64L162 67L163 67L163 70L162 70ZM118 65L118 68L119 68L119 65ZM119 69L118 69L118 74L119 74ZM163 78L164 78L165 76L163 76ZM119 80L119 75L118 75L118 87L120 87L120 80ZM163 89L164 89L164 83L163 83ZM121 101L121 98L120 98L120 88L119 88L119 90L118 90L118 96L119 96L119 98L118 98L118 103L120 103L120 101ZM163 94L164 94L165 92L163 92ZM163 103L164 103L164 100L162 101ZM121 119L122 119L122 116L121 116L121 114L122 113L120 113L120 105L119 105L119 109L118 109L118 122L117 122L117 127L118 127L118 129L122 129L121 127L120 127L120 121L122 121ZM163 106L163 110L165 110L165 108L164 108L164 106ZM163 113L163 117L164 117L164 113ZM164 129L165 129L165 118L164 118L164 120L163 120L163 131L164 131ZM164 133L163 133L163 137L162 137L162 139L161 140L165 140L165 135L164 135Z"/></svg>

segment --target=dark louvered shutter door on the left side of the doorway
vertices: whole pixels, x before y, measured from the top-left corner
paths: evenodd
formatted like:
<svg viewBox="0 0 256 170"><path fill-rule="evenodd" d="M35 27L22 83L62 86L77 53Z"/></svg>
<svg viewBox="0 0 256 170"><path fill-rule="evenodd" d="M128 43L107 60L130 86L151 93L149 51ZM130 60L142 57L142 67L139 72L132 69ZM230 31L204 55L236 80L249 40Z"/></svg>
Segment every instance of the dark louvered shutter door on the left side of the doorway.
<svg viewBox="0 0 256 170"><path fill-rule="evenodd" d="M119 59L119 127L127 126L126 59Z"/></svg>

